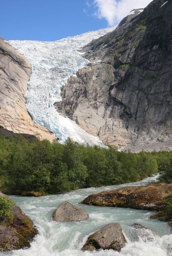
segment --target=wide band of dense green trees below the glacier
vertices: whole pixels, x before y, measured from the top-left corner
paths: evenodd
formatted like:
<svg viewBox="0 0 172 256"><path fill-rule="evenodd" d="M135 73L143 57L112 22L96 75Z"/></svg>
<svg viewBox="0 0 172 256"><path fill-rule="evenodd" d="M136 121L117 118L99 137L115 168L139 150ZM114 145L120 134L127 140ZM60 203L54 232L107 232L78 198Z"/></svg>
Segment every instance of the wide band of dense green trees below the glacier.
<svg viewBox="0 0 172 256"><path fill-rule="evenodd" d="M70 139L62 145L0 135L0 187L57 193L138 181L158 170L170 181L171 157L171 152L119 152Z"/></svg>

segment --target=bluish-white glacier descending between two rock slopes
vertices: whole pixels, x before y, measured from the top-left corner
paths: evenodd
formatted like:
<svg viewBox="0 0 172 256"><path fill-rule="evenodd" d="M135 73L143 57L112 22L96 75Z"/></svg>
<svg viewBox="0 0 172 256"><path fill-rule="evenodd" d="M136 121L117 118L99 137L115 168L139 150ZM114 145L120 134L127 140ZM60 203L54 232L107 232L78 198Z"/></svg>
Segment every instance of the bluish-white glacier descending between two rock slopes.
<svg viewBox="0 0 172 256"><path fill-rule="evenodd" d="M98 137L90 135L74 121L58 114L54 103L62 101L61 88L67 79L89 63L77 50L115 28L91 31L52 42L8 41L32 64L32 74L25 95L28 112L35 123L53 132L61 143L69 137L81 144L105 146Z"/></svg>

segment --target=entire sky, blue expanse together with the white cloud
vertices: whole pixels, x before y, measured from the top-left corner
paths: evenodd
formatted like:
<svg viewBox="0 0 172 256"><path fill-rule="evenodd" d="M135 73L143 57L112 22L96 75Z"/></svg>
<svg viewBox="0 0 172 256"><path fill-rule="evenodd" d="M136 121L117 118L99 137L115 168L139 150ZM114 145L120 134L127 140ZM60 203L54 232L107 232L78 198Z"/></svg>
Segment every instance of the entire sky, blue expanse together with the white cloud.
<svg viewBox="0 0 172 256"><path fill-rule="evenodd" d="M115 26L151 0L0 0L0 37L54 41Z"/></svg>

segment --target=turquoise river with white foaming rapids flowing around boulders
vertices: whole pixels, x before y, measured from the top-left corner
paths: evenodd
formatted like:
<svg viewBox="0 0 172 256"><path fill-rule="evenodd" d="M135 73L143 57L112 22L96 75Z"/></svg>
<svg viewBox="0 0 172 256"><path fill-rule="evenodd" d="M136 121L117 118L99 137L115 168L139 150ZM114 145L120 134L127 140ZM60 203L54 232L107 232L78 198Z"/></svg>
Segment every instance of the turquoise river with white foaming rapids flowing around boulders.
<svg viewBox="0 0 172 256"><path fill-rule="evenodd" d="M40 198L11 196L18 206L32 218L39 230L29 249L14 250L2 255L15 256L171 256L172 235L166 222L150 219L152 211L135 210L130 208L96 207L78 204L91 193L120 188L123 186L138 186L156 179L157 176L144 179L142 182L87 188L68 193L49 195ZM80 222L52 221L53 211L64 200L86 210L90 218ZM121 252L114 250L99 250L82 252L80 249L88 236L100 227L111 222L119 222L128 243ZM138 223L149 230L135 232L131 225Z"/></svg>

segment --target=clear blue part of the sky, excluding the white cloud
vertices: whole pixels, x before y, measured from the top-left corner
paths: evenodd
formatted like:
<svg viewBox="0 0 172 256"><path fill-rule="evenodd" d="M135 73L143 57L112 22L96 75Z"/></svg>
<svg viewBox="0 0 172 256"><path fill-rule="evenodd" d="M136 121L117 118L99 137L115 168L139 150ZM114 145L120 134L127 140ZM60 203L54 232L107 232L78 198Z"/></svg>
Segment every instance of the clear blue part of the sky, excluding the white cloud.
<svg viewBox="0 0 172 256"><path fill-rule="evenodd" d="M107 27L85 0L0 0L0 37L53 41Z"/></svg>

